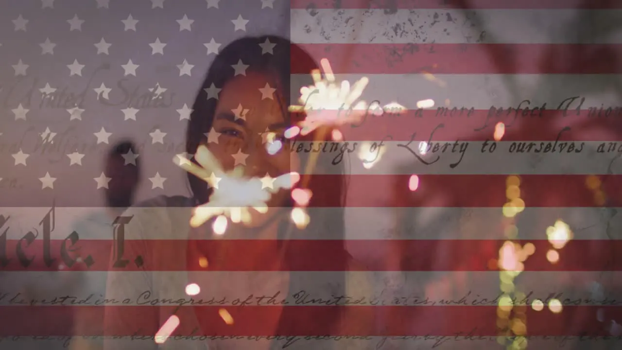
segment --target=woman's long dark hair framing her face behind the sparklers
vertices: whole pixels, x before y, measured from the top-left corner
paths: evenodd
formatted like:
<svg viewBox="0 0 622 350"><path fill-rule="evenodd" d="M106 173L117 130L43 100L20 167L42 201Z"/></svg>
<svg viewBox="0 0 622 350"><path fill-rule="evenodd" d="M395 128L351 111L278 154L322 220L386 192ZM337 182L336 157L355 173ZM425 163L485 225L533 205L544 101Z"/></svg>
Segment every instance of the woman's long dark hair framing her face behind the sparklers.
<svg viewBox="0 0 622 350"><path fill-rule="evenodd" d="M264 44L266 40L274 45L271 53L266 53L259 45ZM190 114L190 121L188 122L186 136L186 151L188 154L195 154L198 146L206 143L207 137L205 133L210 131L215 117L218 100L215 98L208 100L205 89L210 88L212 84L216 88L225 88L226 84L234 78L235 71L231 65L237 64L239 60L244 65L249 65L246 72L265 73L276 80L275 88L277 88L277 92L282 94L282 98L286 103L282 108L284 115L287 116L287 122L292 123L304 117L304 115L290 114L287 111L287 107L292 104L299 104L297 99L300 96L301 87L313 85L313 79L309 73L313 69L318 69L318 65L312 57L301 47L292 44L292 42L282 37L273 35L243 37L234 40L222 49L207 72L207 77L205 77L203 85L197 94L192 107L193 111ZM292 67L292 64L295 67ZM294 71L307 73L294 76L292 75ZM292 77L294 78L292 79ZM312 133L305 137L298 136L297 140L313 141L313 137L315 135ZM307 152L298 153L302 169L305 169L310 154ZM343 239L345 238L343 207L345 204L346 184L343 163L346 157L344 156L340 163L333 164L332 161L336 155L325 152L318 154L317 164L313 173L325 175L312 176L307 184L307 188L313 192L313 196L309 202L309 207L311 208L309 210L310 222L305 232L311 235L315 233L325 235L326 232L330 232L331 238L335 240L333 242L340 242L340 247L337 248L343 249L341 255L346 258L345 247L343 247ZM195 201L199 203L207 202L211 189L206 186L205 182L190 173L188 173L188 180L190 181L190 189ZM279 232L280 237L283 237L282 234L283 232ZM343 264L343 268L339 271L343 273L346 270L345 264L347 262L344 260L340 263ZM345 288L344 276L345 273L340 277L340 286L333 285L336 288L332 291L333 295L345 295L345 290L343 290ZM295 293L293 290L291 292ZM340 311L335 310L335 321L337 321L339 316Z"/></svg>

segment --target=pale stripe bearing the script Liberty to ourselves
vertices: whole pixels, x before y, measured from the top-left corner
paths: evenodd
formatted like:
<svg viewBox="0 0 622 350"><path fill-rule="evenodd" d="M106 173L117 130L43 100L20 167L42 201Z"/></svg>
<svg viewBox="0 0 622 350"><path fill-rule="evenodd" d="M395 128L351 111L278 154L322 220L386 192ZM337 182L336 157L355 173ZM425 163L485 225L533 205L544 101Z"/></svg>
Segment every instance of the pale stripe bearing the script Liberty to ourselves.
<svg viewBox="0 0 622 350"><path fill-rule="evenodd" d="M439 120L439 123L442 121ZM447 125L447 123L445 123ZM396 126L397 127L397 126ZM349 128L345 128L348 130ZM494 129L494 128L493 128ZM395 131L395 130L394 130ZM410 133L417 132L416 128L408 130ZM390 133L390 131L387 131ZM490 139L493 138L493 130L490 131ZM348 133L343 133L347 137ZM382 136L378 133L378 139ZM402 133L403 135L404 133ZM567 133L568 134L568 133ZM549 148L555 144L555 140L551 141L501 141L496 143L494 153L488 153L488 146L493 142L489 141L485 152L482 153L483 141L458 141L454 151L452 148L456 143L455 140L468 135L468 130L460 130L459 128L451 128L450 131L443 132L439 129L435 132L435 137L447 136L447 140L453 141L431 141L430 151L425 155L420 152L420 147L427 145L427 141L384 141L384 153L378 158L376 163L370 169L366 169L361 158L373 160L378 154L378 145L380 141L350 141L346 144L335 145L331 151L332 143L328 143L323 156L324 161L320 161L322 166L313 169L314 174L620 174L622 172L622 162L618 148L622 150L622 141L616 143L615 151L611 153L597 153L596 149L602 142L595 141L574 141L571 153L568 153L572 141L559 141L557 143L556 153L543 153L547 144ZM569 136L562 136L562 140L568 139ZM421 132L417 133L417 140L429 140L430 135ZM533 142L531 152L519 153L518 149L526 150L529 143ZM374 146L374 143L376 145ZM445 146L448 144L447 146ZM583 144L583 146L582 146ZM608 150L609 142L605 142L604 149ZM322 149L324 143L311 144L295 143L292 148L293 154L308 156L313 149ZM437 151L434 147L438 145ZM564 151L559 152L559 147L564 145ZM520 146L520 148L519 148ZM445 152L443 153L443 147ZM341 149L343 149L343 154ZM580 153L577 150L582 149ZM306 150L306 151L305 151ZM540 150L540 153L536 153ZM300 151L300 152L298 152ZM373 151L373 152L371 152ZM417 159L414 154L424 159L424 161L433 164L424 164ZM363 156L361 156L363 154ZM367 158L365 158L367 157ZM341 163L333 165L332 162L340 161ZM438 159L438 161L436 161ZM613 162L613 163L612 163ZM345 168L344 168L344 165ZM455 168L451 168L452 164L457 164Z"/></svg>

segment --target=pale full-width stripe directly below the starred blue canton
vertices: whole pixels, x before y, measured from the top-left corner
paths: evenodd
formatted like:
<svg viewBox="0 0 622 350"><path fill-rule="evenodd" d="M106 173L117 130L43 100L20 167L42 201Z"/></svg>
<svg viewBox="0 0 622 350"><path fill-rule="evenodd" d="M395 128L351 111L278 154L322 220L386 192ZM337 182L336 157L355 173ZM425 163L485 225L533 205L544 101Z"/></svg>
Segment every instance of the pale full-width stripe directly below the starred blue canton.
<svg viewBox="0 0 622 350"><path fill-rule="evenodd" d="M423 185L422 185L423 186ZM422 187L423 188L423 187ZM404 191L407 184L404 184ZM418 190L419 191L419 190ZM382 191L379 191L382 192ZM381 193L378 193L379 195ZM370 196L372 194L370 193ZM442 196L442 194L438 194ZM434 197L434 199L438 198ZM381 199L379 199L380 201ZM434 203L430 203L432 206ZM3 208L2 214L10 215L7 222L9 230L7 239L21 239L33 227L39 229L39 222L49 209L45 208ZM113 228L108 224L83 225L84 218L93 210L102 208L56 208L56 227L51 233L51 239L66 239L67 235L76 230L81 239L111 240ZM154 211L155 210L155 211ZM187 230L183 229L179 221L174 232L169 232L169 217L189 217L191 208L159 207L159 208L132 208L130 215L136 215L141 220L152 222L154 225L149 232L134 232L126 230L126 239L186 239ZM332 208L309 208L309 215L317 217L323 213L330 213ZM421 207L421 208L389 208L389 207L350 207L345 208L346 239L348 240L434 240L434 239L504 239L501 230L491 230L491 227L503 227L504 217L501 208L457 208L457 207ZM396 217L404 217L396 223ZM547 227L555 224L558 219L569 224L575 240L608 240L622 239L622 209L600 207L527 207L518 215L519 237L526 240L547 239ZM231 224L230 224L231 225ZM320 232L297 232L290 239L335 239L335 232L330 227L333 223L325 223L326 230ZM159 229L158 229L159 227ZM2 227L2 232L5 227ZM225 235L205 235L202 239L249 239L248 234L236 233L228 229ZM41 240L40 233L37 240ZM78 242L78 245L80 243ZM372 252L373 254L373 252Z"/></svg>

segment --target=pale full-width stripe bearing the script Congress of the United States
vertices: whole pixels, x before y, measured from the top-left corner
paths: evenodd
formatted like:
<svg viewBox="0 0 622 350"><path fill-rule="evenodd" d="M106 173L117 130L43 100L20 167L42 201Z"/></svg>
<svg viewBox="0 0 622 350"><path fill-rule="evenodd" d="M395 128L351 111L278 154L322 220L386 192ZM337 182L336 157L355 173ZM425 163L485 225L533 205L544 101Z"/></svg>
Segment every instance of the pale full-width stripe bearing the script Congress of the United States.
<svg viewBox="0 0 622 350"><path fill-rule="evenodd" d="M561 260L563 260L563 250ZM577 257L572 257L577 258ZM14 281L2 288L0 305L101 306L169 305L272 306L287 300L288 305L367 305L367 306L442 306L498 305L499 272L346 272L346 295L336 288L343 274L333 272L148 272L155 287L133 289L125 286L113 300L106 296L106 276L126 275L141 280L144 272L0 272L2 280ZM295 290L272 283L289 274ZM391 283L386 277L396 275ZM186 279L187 278L187 279ZM515 280L519 290L533 300L558 298L564 305L622 305L618 290L622 272L523 272ZM197 283L198 295L185 293L184 280ZM172 283L176 281L179 283ZM597 283L597 284L595 284ZM530 294L531 293L531 294ZM554 296L551 296L551 293ZM562 294L559 294L562 293ZM252 295L251 295L252 294ZM265 298L261 298L265 296ZM276 296L274 301L270 301ZM60 298L65 298L64 303ZM339 298L342 297L342 298ZM58 298L55 300L55 298ZM396 300L396 298L398 300ZM445 300L445 301L443 301ZM72 302L74 304L72 304ZM27 304L24 304L27 303ZM610 304L609 304L610 305Z"/></svg>

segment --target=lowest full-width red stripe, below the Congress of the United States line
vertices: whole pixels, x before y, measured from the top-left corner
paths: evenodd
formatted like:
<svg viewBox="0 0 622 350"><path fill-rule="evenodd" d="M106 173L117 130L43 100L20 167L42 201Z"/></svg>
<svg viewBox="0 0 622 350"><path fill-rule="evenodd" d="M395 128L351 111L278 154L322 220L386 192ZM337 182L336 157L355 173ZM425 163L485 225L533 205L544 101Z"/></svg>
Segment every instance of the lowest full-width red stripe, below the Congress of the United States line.
<svg viewBox="0 0 622 350"><path fill-rule="evenodd" d="M228 325L218 315L221 306L182 306L177 311L170 306L106 307L116 309L111 311L123 318L106 323L105 333L109 336L153 336L161 326L153 318L157 311L164 315L175 313L180 318L180 326L173 335L269 336L275 335L274 324L281 314L281 308L274 306L230 306L226 310L234 322ZM335 327L329 321L335 308L351 311L341 327ZM527 308L527 335L608 335L606 326L596 322L598 309L603 309L613 319L622 319L622 308L619 306L564 306L564 310L557 314ZM104 332L104 307L101 306L2 306L1 310L0 336L72 335L74 312L80 312L84 319L89 320L81 326L81 334L77 335L101 335ZM196 330L192 322L193 311L210 327ZM496 311L496 306L285 306L285 327L279 335L496 336L499 334ZM382 327L374 322L380 315L391 315ZM572 327L577 319L582 319L584 324Z"/></svg>

